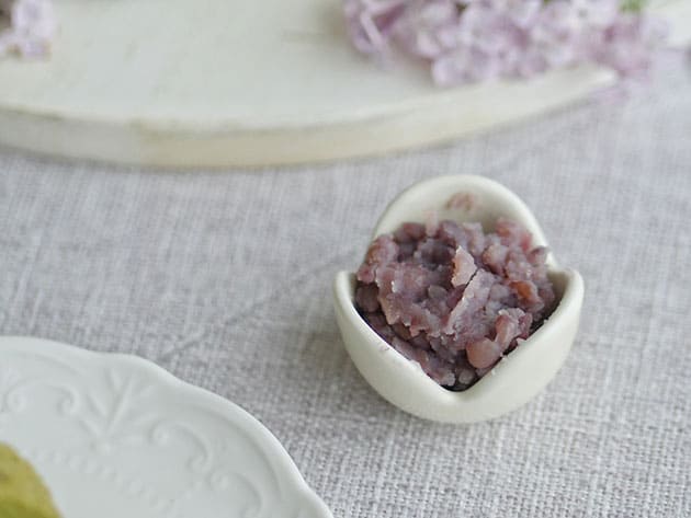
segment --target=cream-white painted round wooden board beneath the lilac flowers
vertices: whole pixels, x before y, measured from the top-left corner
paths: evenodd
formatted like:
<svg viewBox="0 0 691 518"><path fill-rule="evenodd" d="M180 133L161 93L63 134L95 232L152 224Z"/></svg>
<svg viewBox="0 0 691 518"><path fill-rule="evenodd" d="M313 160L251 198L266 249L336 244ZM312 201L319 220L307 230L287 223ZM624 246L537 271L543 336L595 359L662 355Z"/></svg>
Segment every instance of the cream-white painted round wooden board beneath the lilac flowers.
<svg viewBox="0 0 691 518"><path fill-rule="evenodd" d="M691 0L664 2L676 37ZM267 165L421 146L564 106L594 69L439 89L347 39L340 0L57 0L50 59L0 61L0 143L145 165Z"/></svg>

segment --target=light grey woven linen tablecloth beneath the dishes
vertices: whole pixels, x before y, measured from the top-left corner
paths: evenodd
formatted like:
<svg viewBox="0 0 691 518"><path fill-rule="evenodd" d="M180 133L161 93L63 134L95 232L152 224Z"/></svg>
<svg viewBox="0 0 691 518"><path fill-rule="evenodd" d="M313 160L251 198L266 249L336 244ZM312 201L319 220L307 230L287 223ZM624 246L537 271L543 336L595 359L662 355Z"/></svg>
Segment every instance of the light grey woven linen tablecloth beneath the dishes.
<svg viewBox="0 0 691 518"><path fill-rule="evenodd" d="M363 381L330 283L387 202L482 174L587 284L573 353L472 426ZM0 334L132 353L238 403L336 517L691 516L691 77L454 146L332 165L140 171L0 151Z"/></svg>

